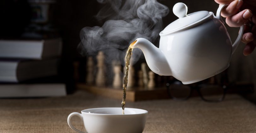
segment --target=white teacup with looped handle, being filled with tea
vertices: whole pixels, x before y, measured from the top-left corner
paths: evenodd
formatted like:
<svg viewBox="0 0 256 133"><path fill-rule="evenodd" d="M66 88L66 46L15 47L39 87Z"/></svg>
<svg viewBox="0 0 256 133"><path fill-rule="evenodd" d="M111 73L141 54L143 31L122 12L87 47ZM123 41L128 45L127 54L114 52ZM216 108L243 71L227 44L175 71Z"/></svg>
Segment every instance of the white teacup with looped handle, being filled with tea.
<svg viewBox="0 0 256 133"><path fill-rule="evenodd" d="M72 126L70 119L74 115L81 118L88 133L142 133L148 111L125 108L125 114L122 114L121 107L106 107L85 109L81 113L73 112L67 117L69 127L79 133L86 132Z"/></svg>

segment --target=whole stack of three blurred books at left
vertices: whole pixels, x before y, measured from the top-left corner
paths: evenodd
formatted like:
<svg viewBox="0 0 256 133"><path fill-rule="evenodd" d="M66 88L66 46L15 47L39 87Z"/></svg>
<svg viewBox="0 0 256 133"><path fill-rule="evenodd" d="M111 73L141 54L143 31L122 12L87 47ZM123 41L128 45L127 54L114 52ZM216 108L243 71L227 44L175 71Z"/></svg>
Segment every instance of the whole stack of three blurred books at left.
<svg viewBox="0 0 256 133"><path fill-rule="evenodd" d="M61 48L61 38L0 40L0 98L66 95L48 78L58 74Z"/></svg>

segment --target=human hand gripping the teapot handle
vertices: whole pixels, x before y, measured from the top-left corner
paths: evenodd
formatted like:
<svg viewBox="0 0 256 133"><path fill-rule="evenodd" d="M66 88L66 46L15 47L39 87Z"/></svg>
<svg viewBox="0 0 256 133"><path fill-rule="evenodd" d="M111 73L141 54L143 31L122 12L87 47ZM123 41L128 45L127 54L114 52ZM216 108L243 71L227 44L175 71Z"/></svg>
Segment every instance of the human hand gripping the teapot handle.
<svg viewBox="0 0 256 133"><path fill-rule="evenodd" d="M244 26L242 42L246 43L243 50L244 55L253 52L256 46L256 0L215 0L218 4L229 4L225 7L221 15L226 17L226 23L230 27ZM239 12L240 11L240 12Z"/></svg>

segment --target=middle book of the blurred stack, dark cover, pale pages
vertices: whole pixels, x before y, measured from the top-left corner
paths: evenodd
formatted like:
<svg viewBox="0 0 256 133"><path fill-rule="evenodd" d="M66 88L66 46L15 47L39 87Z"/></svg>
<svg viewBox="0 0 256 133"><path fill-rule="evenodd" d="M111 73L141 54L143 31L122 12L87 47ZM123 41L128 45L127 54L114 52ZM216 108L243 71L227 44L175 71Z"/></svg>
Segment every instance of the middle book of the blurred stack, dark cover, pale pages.
<svg viewBox="0 0 256 133"><path fill-rule="evenodd" d="M0 60L0 82L21 81L57 75L58 59Z"/></svg>

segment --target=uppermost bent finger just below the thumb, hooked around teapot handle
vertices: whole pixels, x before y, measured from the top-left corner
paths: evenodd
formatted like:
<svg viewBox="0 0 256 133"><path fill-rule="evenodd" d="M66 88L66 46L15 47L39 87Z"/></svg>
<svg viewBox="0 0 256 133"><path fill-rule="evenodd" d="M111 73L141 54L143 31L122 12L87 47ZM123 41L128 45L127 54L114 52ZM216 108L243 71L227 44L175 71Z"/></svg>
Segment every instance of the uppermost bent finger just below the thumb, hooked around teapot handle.
<svg viewBox="0 0 256 133"><path fill-rule="evenodd" d="M221 11L223 17L230 17L235 15L243 4L242 0L234 0L227 7L224 7Z"/></svg>

